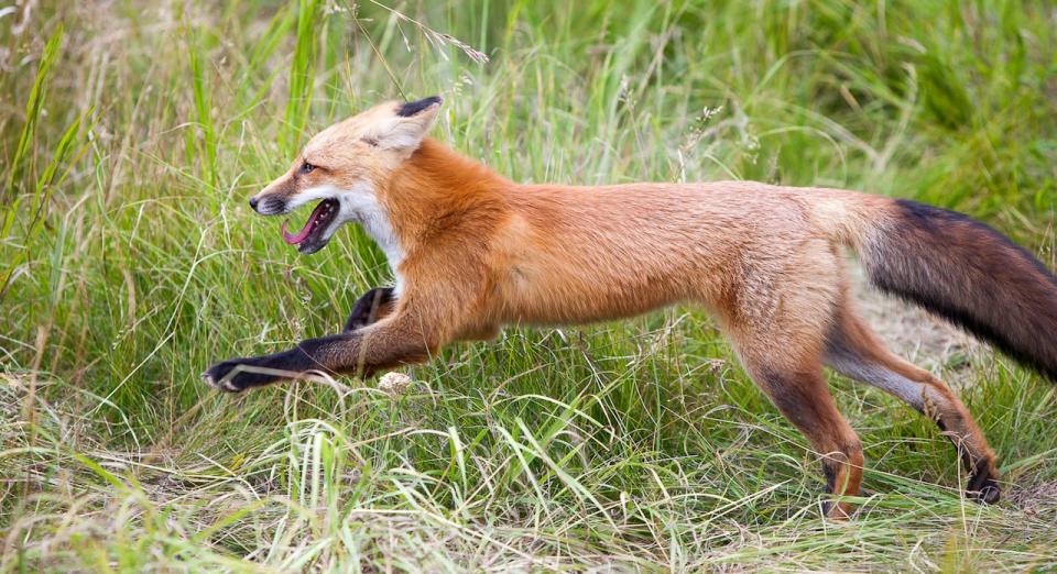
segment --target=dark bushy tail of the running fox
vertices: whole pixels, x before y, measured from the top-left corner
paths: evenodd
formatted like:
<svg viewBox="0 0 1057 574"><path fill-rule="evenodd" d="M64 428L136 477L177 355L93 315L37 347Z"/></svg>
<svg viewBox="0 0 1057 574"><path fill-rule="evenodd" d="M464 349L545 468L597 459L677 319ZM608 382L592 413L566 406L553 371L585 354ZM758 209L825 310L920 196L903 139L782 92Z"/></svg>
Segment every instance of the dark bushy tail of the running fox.
<svg viewBox="0 0 1057 574"><path fill-rule="evenodd" d="M961 213L906 200L894 209L858 245L870 280L1057 383L1057 277Z"/></svg>

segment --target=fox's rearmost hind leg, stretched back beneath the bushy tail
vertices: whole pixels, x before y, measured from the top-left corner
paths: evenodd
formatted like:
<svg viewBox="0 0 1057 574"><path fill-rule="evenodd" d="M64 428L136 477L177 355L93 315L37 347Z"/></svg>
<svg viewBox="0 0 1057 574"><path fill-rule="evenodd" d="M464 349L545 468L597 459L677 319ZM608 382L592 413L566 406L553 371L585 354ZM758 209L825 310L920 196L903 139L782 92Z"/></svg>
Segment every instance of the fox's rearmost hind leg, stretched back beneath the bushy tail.
<svg viewBox="0 0 1057 574"><path fill-rule="evenodd" d="M933 419L955 443L970 477L970 498L996 503L1001 495L994 453L969 409L942 380L892 354L847 307L826 343L825 362L844 376L878 387Z"/></svg>

